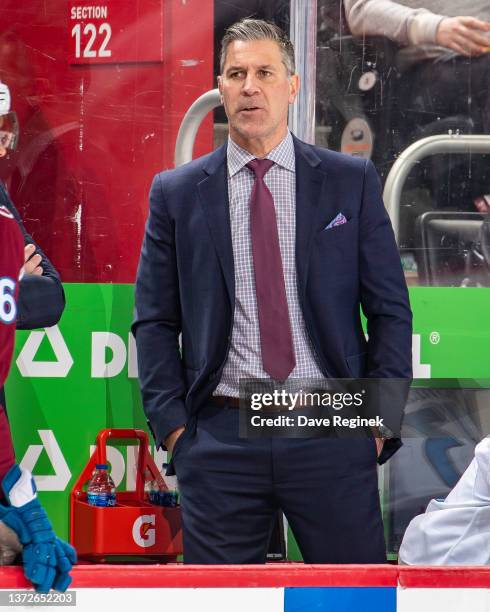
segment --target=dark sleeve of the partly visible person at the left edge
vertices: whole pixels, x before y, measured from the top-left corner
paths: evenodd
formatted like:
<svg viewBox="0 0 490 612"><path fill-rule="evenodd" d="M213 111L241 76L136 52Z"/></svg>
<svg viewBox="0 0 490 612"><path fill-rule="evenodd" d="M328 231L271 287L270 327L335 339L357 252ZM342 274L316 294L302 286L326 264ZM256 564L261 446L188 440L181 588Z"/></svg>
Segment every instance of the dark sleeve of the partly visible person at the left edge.
<svg viewBox="0 0 490 612"><path fill-rule="evenodd" d="M25 275L20 283L17 329L56 325L65 308L65 293L58 272L38 244L27 233L20 215L5 187L0 183L0 204L10 210L24 235L24 244L33 244L41 255L42 276Z"/></svg>

